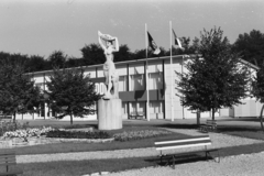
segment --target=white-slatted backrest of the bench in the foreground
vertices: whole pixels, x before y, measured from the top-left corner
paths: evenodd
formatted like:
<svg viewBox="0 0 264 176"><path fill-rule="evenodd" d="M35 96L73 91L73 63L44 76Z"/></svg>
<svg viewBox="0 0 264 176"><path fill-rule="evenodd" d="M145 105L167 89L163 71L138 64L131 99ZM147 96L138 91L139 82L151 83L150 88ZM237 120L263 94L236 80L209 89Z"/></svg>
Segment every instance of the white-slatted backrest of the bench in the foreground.
<svg viewBox="0 0 264 176"><path fill-rule="evenodd" d="M155 142L155 147L157 151L202 145L204 146L211 145L211 140L209 135L189 136L185 139L175 140L162 140Z"/></svg>

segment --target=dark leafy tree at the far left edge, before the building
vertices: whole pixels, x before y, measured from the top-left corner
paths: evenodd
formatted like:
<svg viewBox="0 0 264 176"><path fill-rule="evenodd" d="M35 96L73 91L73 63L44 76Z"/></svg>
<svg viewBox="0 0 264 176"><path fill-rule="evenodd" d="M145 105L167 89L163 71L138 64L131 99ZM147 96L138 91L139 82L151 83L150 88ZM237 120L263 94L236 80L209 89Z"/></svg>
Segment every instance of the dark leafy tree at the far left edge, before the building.
<svg viewBox="0 0 264 176"><path fill-rule="evenodd" d="M0 110L12 114L34 111L41 101L41 91L34 86L30 75L25 75L24 65L3 59L0 66Z"/></svg>

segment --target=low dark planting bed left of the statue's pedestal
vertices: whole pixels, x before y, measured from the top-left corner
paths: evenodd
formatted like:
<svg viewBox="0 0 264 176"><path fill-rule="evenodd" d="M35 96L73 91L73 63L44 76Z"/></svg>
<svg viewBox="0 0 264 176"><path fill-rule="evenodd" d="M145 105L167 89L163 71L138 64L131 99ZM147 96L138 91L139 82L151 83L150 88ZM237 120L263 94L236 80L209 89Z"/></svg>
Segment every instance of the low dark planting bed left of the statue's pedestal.
<svg viewBox="0 0 264 176"><path fill-rule="evenodd" d="M65 131L53 130L47 132L46 138L61 138L61 139L110 139L107 132L84 132L84 131Z"/></svg>

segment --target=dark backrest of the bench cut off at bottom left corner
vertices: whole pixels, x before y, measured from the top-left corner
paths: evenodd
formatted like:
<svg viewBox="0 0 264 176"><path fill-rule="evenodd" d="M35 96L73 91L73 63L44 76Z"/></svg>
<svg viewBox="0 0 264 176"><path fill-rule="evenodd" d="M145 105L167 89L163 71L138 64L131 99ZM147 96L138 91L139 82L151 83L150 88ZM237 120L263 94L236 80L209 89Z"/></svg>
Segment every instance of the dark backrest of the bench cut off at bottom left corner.
<svg viewBox="0 0 264 176"><path fill-rule="evenodd" d="M0 152L0 166L15 165L15 151L1 151Z"/></svg>

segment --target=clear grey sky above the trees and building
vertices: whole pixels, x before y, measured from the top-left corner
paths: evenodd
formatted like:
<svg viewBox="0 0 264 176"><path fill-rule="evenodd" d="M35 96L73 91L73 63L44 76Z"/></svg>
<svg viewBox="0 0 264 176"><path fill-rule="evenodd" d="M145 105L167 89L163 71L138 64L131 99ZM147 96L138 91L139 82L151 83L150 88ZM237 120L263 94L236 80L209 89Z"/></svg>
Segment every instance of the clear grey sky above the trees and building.
<svg viewBox="0 0 264 176"><path fill-rule="evenodd" d="M239 34L264 33L263 9L263 0L1 0L0 52L78 58L98 43L98 31L134 52L145 48L145 28L168 50L169 21L178 37L193 41L220 26L234 43Z"/></svg>

